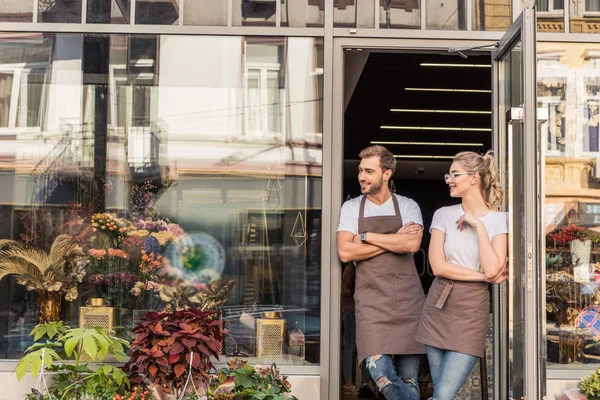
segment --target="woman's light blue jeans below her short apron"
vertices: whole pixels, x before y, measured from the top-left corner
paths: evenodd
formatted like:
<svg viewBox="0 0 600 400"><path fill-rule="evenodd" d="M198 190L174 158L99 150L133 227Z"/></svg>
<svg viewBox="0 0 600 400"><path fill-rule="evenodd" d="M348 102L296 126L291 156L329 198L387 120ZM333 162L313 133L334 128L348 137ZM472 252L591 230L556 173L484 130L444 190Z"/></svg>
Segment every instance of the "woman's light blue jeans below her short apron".
<svg viewBox="0 0 600 400"><path fill-rule="evenodd" d="M455 400L479 357L425 346L433 380L431 400Z"/></svg>

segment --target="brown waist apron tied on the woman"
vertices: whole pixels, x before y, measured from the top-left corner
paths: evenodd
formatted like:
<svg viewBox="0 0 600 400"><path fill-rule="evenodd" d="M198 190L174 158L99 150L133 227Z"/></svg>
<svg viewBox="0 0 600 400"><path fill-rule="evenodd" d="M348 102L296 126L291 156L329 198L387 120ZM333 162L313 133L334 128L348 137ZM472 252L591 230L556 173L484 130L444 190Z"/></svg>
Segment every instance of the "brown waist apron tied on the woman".
<svg viewBox="0 0 600 400"><path fill-rule="evenodd" d="M425 300L417 340L440 349L483 357L489 309L487 282L437 277Z"/></svg>

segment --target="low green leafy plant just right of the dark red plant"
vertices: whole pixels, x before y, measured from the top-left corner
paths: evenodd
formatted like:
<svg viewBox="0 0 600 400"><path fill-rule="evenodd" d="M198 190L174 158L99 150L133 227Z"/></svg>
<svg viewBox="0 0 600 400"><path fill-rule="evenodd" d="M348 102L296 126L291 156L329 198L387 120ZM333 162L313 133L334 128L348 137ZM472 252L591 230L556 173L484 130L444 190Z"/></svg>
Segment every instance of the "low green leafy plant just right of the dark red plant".
<svg viewBox="0 0 600 400"><path fill-rule="evenodd" d="M232 358L227 368L213 377L208 400L285 400L294 399L286 376L273 364L270 368L252 367L244 360ZM190 398L189 400L196 400Z"/></svg>

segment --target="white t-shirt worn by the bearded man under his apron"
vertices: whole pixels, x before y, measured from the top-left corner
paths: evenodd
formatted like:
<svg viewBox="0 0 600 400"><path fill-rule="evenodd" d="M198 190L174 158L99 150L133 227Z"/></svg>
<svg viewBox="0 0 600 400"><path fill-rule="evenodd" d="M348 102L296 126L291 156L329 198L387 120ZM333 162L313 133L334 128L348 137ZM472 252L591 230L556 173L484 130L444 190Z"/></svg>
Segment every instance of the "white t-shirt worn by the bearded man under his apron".
<svg viewBox="0 0 600 400"><path fill-rule="evenodd" d="M342 205L342 211L340 212L340 224L338 225L339 231L352 232L354 235L358 235L358 213L360 211L360 202L364 195L360 195L351 200L348 200ZM421 209L416 201L409 199L408 197L394 194L398 199L398 206L400 208L400 216L402 217L402 223L404 225L409 222L417 223L423 226L423 217L421 216ZM372 203L369 199L365 202L365 217L379 217L382 215L396 215L394 210L394 201L392 197L378 206Z"/></svg>

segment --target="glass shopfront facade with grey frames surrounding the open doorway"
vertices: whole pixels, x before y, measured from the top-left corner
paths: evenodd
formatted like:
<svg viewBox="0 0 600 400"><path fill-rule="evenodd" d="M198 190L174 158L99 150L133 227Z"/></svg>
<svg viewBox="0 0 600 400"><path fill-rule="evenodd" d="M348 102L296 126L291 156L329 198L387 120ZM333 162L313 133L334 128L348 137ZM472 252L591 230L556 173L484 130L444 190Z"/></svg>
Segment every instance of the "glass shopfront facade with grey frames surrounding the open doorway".
<svg viewBox="0 0 600 400"><path fill-rule="evenodd" d="M344 161L357 157L343 150L349 82L359 79L345 53L465 48L489 55L491 63L490 45L522 11L510 0L0 5L0 239L49 250L57 235L80 233L74 225L98 213L128 220L156 238L156 254L175 271L173 279L235 282L221 308L231 332L226 357L275 361L300 399L323 400L341 396L341 264L334 233L344 176L350 176ZM506 209L528 213L541 227L544 245L536 251L542 262L534 270L543 351L529 361L543 373L547 398L559 399L600 363L600 334L585 322L600 312L600 252L594 243L580 256L556 236L569 224L600 231L600 3L540 0L536 27L536 108L547 113L537 125L538 150L529 154L542 179L539 200L533 213L509 203ZM495 96L499 86L490 85ZM486 140L498 143L500 133L488 134ZM492 147L507 157L508 149ZM177 240L161 238L157 224L177 225L178 234L164 228ZM62 320L77 325L80 307L94 297L110 299L125 327L135 323L135 311L158 307L148 280L141 296L132 295L141 281L139 265L100 258L76 298L62 301ZM507 287L526 274L514 271ZM11 373L32 343L40 301L13 277L0 287L0 380L10 387L5 398L13 400L33 385L15 384ZM494 296L492 329L502 332L501 308L513 304L509 297L519 297L519 288L497 288ZM257 340L267 311L276 311L285 326L268 357ZM289 343L296 327L305 337L302 355L292 354ZM495 346L490 360L514 350ZM506 357L531 365L523 361L527 354L515 354ZM510 364L503 372L489 364L494 398L505 393L496 379L503 373L511 377L509 395L522 392L515 382L526 367Z"/></svg>

